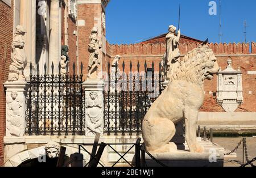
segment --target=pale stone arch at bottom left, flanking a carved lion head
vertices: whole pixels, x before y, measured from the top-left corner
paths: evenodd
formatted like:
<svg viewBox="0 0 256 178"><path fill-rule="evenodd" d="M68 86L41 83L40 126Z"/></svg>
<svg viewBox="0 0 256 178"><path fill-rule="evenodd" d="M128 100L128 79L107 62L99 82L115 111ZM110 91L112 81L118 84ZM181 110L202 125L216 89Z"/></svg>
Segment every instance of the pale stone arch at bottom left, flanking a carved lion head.
<svg viewBox="0 0 256 178"><path fill-rule="evenodd" d="M45 146L40 146L31 150L24 150L12 156L9 160L5 162L5 167L18 167L20 164L26 162L27 160L32 160L39 158L40 156L46 155ZM67 148L65 156L70 157L71 154L78 152L78 149L70 146L65 146ZM85 151L82 151L84 155L84 162L89 162L90 156Z"/></svg>

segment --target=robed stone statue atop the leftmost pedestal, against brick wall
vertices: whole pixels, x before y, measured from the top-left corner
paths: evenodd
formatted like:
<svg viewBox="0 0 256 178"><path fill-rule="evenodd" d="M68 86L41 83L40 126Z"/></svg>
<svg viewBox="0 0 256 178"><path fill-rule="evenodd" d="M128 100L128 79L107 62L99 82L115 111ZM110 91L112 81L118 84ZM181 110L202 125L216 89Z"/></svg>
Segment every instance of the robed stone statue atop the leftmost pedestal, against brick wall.
<svg viewBox="0 0 256 178"><path fill-rule="evenodd" d="M11 43L11 64L9 67L8 81L13 82L17 80L26 80L24 77L24 68L27 65L27 58L24 50L23 36L26 31L22 26L17 26Z"/></svg>

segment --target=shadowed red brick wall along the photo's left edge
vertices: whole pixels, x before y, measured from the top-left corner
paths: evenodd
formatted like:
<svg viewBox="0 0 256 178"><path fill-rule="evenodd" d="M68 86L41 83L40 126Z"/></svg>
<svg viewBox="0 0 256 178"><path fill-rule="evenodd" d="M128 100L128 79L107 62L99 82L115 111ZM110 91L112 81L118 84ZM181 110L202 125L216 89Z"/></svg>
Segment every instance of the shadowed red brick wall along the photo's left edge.
<svg viewBox="0 0 256 178"><path fill-rule="evenodd" d="M5 135L5 89L13 41L13 1L11 7L0 1L0 166L3 166L3 136Z"/></svg>

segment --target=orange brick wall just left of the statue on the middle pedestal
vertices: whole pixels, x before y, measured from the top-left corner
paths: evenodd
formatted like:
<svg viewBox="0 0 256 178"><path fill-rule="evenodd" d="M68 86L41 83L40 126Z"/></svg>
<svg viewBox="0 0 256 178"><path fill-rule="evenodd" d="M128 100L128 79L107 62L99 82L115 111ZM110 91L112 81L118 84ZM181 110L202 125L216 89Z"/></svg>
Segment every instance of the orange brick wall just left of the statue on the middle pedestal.
<svg viewBox="0 0 256 178"><path fill-rule="evenodd" d="M79 20L85 20L85 26L78 27L79 32L79 62L82 62L84 69L82 73L86 78L88 67L88 44L89 35L91 29L99 23L96 17L101 17L102 7L100 4L79 4L78 5L78 18Z"/></svg>

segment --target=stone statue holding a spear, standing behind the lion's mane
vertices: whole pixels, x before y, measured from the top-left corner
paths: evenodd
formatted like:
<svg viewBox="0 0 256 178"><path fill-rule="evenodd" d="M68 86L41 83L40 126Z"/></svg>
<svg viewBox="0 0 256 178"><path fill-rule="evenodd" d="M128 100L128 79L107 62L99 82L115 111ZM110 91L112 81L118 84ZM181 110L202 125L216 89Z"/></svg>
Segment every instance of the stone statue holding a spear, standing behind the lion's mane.
<svg viewBox="0 0 256 178"><path fill-rule="evenodd" d="M180 40L180 31L177 32L177 36L175 34L176 27L169 26L169 33L166 35L167 39L167 62L166 62L166 75L167 79L170 78L172 74L175 73L177 66L179 66L180 61L180 50L178 48L179 40Z"/></svg>

